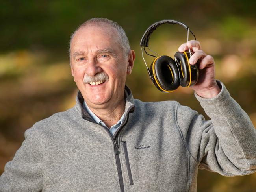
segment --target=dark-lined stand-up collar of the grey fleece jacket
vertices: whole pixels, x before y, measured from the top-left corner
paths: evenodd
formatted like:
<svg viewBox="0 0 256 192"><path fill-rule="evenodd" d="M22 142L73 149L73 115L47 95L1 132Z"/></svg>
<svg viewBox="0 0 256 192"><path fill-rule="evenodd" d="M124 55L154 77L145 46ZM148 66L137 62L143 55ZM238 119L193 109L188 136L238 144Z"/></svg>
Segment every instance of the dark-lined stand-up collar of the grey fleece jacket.
<svg viewBox="0 0 256 192"><path fill-rule="evenodd" d="M133 113L135 110L135 105L134 105L134 98L132 96L132 91L125 85L124 87L124 96L125 96L125 113ZM82 93L78 91L78 94L76 96L76 109L80 112L81 116L83 119L96 123L91 116L83 109L83 101L84 98L82 96Z"/></svg>

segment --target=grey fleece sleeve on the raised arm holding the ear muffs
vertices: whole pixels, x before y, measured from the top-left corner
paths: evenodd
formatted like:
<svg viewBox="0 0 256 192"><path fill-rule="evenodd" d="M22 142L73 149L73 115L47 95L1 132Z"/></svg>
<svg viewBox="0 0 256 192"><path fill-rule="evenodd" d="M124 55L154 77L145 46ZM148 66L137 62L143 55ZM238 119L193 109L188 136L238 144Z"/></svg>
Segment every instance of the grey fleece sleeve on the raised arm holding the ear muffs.
<svg viewBox="0 0 256 192"><path fill-rule="evenodd" d="M195 94L211 120L179 105L177 124L199 168L224 176L251 174L256 171L256 129L223 83L217 83L221 92L216 97Z"/></svg>

